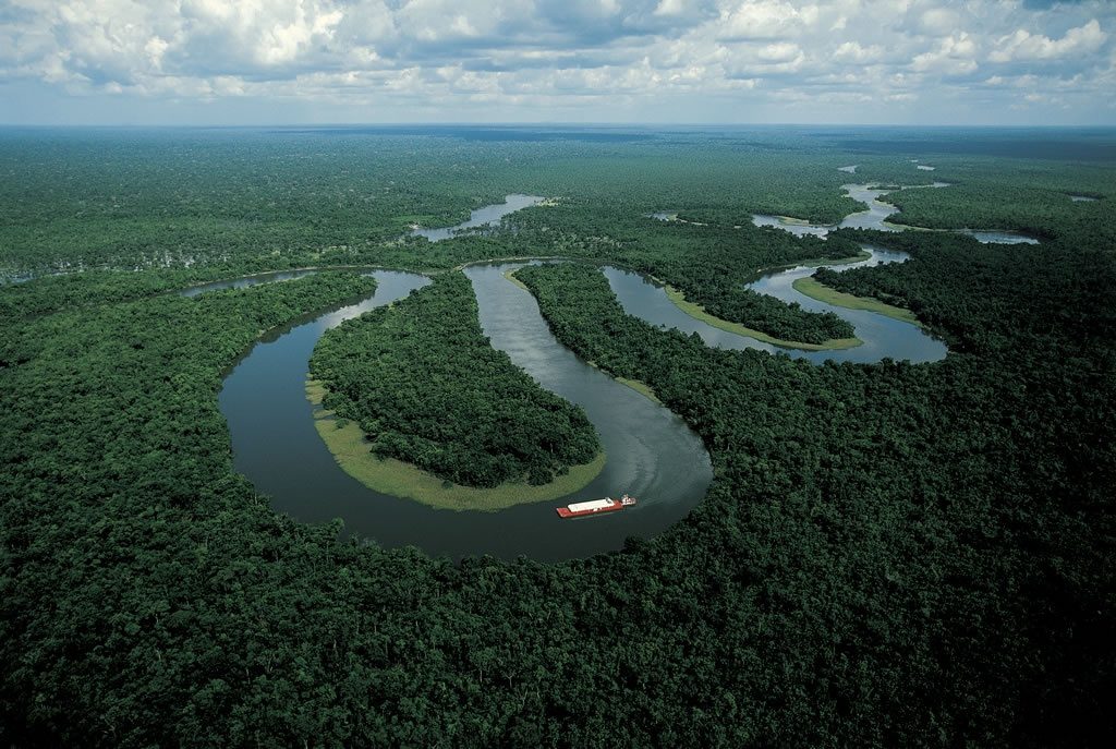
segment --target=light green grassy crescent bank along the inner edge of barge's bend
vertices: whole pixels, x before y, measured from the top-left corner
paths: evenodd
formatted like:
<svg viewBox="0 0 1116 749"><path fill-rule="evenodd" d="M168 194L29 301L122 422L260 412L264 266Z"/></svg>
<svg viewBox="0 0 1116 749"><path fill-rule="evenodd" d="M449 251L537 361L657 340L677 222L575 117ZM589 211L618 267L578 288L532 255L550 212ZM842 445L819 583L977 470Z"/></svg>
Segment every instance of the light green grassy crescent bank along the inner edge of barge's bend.
<svg viewBox="0 0 1116 749"><path fill-rule="evenodd" d="M339 422L331 411L320 407L325 393L321 383L306 383L306 396L316 406L314 426L341 470L374 491L413 499L430 507L493 512L516 505L554 500L584 489L605 468L605 453L602 451L591 462L574 465L566 476L539 487L504 483L492 489L478 489L449 483L411 463L373 455L368 452L364 431L356 422Z"/></svg>

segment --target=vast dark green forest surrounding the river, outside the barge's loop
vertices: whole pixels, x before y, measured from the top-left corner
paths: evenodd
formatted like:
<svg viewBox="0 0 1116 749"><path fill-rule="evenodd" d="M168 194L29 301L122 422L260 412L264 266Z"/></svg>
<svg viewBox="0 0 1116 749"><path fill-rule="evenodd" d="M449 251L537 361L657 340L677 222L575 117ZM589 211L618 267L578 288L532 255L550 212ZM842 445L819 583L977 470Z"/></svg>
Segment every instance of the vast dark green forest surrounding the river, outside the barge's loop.
<svg viewBox="0 0 1116 749"><path fill-rule="evenodd" d="M0 267L86 269L0 287L0 741L1110 746L1113 164L848 137L0 132ZM893 194L897 218L1043 243L749 225L835 222L856 208L841 184L931 177L953 186ZM403 238L512 192L557 205ZM646 215L663 210L706 225ZM912 258L818 278L914 310L944 361L711 349L626 316L591 263L518 273L558 338L646 382L715 471L667 532L552 565L339 541L234 471L222 375L261 332L369 279L167 294L309 265L565 256L829 336L827 317L739 286L862 241Z"/></svg>

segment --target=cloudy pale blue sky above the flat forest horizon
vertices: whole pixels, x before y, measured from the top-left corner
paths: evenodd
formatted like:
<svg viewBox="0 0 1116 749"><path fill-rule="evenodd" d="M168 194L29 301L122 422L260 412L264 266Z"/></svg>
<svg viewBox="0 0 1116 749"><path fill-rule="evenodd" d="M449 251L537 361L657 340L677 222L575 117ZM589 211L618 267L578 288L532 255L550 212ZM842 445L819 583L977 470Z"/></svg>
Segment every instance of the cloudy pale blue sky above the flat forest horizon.
<svg viewBox="0 0 1116 749"><path fill-rule="evenodd" d="M1116 124L1116 2L0 0L0 123Z"/></svg>

